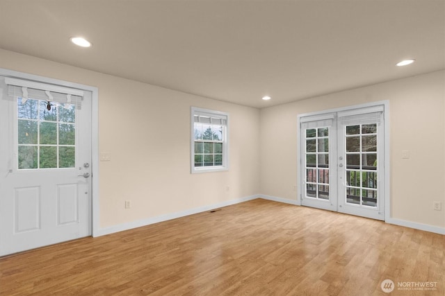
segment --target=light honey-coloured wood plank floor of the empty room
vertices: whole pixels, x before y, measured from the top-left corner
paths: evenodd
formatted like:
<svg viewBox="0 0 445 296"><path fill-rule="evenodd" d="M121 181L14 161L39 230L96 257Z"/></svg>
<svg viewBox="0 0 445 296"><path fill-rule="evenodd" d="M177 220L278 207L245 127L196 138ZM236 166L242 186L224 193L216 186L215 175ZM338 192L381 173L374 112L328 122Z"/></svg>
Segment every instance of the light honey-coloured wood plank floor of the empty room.
<svg viewBox="0 0 445 296"><path fill-rule="evenodd" d="M445 295L445 236L252 200L0 259L0 295ZM437 290L383 293L384 279Z"/></svg>

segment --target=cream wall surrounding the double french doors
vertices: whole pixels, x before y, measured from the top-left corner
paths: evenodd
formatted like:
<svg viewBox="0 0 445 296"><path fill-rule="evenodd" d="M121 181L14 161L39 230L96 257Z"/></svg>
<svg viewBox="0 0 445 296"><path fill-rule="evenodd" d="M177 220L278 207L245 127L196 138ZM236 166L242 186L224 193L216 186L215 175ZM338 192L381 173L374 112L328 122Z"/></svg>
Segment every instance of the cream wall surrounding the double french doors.
<svg viewBox="0 0 445 296"><path fill-rule="evenodd" d="M261 110L261 190L296 200L297 115L389 100L391 218L445 227L445 71ZM410 159L402 159L410 150ZM432 209L442 202L442 211Z"/></svg>

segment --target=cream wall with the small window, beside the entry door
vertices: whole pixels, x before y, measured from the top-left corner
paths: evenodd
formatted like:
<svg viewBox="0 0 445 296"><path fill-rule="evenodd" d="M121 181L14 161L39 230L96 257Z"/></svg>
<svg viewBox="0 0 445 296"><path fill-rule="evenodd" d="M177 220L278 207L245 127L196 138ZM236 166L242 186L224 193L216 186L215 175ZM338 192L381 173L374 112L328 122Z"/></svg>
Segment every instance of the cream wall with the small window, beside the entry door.
<svg viewBox="0 0 445 296"><path fill-rule="evenodd" d="M111 154L110 162L99 163L101 228L258 193L255 108L1 49L0 67L99 88L99 151ZM190 173L191 106L229 112L229 171ZM124 209L124 200L131 200L131 209Z"/></svg>

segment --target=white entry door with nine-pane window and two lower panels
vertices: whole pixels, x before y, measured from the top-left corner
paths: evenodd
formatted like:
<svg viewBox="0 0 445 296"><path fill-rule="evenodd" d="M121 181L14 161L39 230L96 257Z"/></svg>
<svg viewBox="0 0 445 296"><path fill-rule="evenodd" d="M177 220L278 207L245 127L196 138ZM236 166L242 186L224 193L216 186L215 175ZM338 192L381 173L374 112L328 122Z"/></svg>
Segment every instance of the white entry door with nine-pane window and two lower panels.
<svg viewBox="0 0 445 296"><path fill-rule="evenodd" d="M0 76L0 256L91 235L91 93Z"/></svg>

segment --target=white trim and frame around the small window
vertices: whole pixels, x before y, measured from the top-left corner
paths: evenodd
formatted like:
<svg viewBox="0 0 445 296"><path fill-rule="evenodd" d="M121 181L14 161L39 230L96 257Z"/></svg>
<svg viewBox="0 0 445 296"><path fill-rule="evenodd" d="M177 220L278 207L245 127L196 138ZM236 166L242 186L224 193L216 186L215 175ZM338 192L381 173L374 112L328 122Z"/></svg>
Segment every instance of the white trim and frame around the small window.
<svg viewBox="0 0 445 296"><path fill-rule="evenodd" d="M209 173L229 170L229 114L216 110L202 109L198 107L191 107L191 146L190 146L190 167L191 173ZM225 131L223 132L223 165L222 166L200 166L195 167L195 115L211 114L216 117L226 117Z"/></svg>

